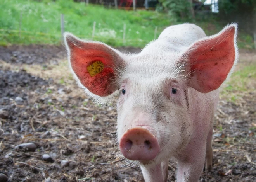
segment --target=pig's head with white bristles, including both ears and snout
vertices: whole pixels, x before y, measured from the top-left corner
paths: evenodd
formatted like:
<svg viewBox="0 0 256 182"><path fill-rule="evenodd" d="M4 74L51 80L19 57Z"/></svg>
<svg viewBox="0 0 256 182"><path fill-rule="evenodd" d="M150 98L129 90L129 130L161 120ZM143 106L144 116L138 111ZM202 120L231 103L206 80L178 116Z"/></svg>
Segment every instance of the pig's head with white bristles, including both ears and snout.
<svg viewBox="0 0 256 182"><path fill-rule="evenodd" d="M100 104L119 95L117 135L125 158L150 164L186 146L188 89L208 93L220 87L236 60L235 36L232 24L180 52L157 40L130 55L69 33L65 40L70 66L87 94Z"/></svg>

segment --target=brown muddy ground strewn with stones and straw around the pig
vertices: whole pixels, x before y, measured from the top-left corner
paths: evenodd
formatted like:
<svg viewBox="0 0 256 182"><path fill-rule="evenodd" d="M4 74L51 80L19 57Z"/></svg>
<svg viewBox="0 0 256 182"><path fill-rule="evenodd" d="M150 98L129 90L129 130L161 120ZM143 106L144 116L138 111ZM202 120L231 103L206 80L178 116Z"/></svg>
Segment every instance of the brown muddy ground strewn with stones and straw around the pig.
<svg viewBox="0 0 256 182"><path fill-rule="evenodd" d="M62 46L0 47L0 182L143 182L138 166L125 165L118 153L114 106L86 98L65 56ZM256 54L244 51L240 60L255 64ZM201 182L256 181L256 91L237 94L235 102L221 95L213 170ZM35 145L26 151L22 143ZM168 182L175 168L170 160Z"/></svg>

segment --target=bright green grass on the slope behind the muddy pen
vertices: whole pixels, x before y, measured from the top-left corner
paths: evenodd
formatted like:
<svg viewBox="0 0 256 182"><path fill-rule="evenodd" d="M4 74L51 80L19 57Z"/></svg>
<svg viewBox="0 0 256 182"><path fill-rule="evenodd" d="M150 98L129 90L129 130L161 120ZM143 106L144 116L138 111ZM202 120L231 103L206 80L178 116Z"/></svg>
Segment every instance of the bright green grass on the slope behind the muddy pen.
<svg viewBox="0 0 256 182"><path fill-rule="evenodd" d="M21 19L21 35L19 22ZM156 11L125 11L106 9L99 5L86 6L84 2L71 0L1 0L0 2L0 45L8 44L58 44L61 40L60 16L65 17L65 31L78 37L92 39L93 22L96 22L94 40L103 41L112 46L143 47L154 39L163 29L179 24L168 15ZM187 20L184 20L187 22ZM224 24L211 18L193 20L206 34L220 31ZM209 23L211 22L211 23ZM125 43L123 44L123 25L126 24ZM9 31L5 31L9 30ZM16 31L11 31L16 30ZM251 36L241 34L239 46L253 48Z"/></svg>

